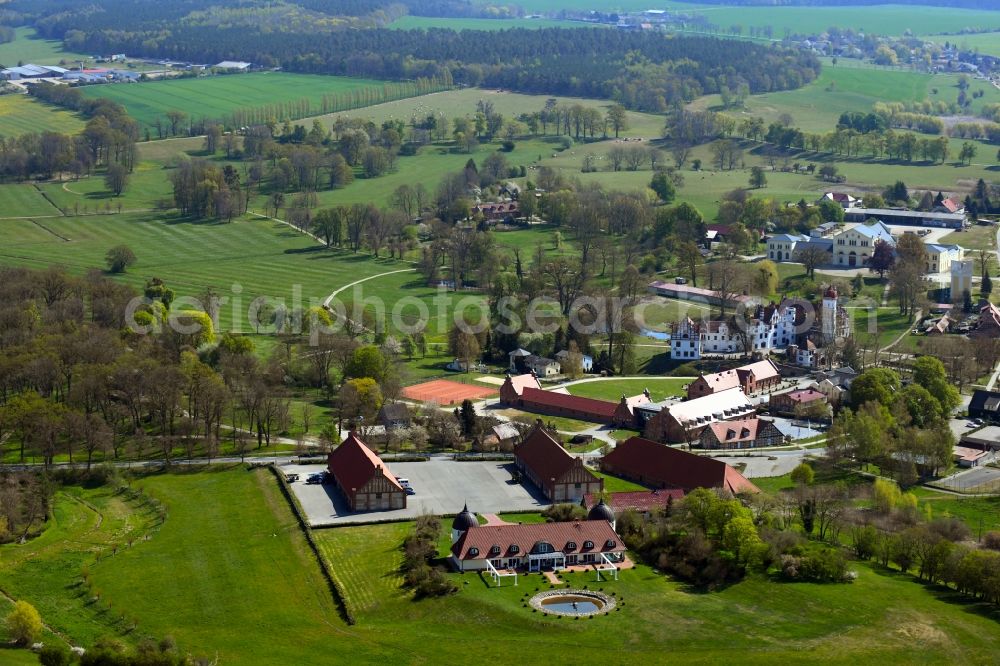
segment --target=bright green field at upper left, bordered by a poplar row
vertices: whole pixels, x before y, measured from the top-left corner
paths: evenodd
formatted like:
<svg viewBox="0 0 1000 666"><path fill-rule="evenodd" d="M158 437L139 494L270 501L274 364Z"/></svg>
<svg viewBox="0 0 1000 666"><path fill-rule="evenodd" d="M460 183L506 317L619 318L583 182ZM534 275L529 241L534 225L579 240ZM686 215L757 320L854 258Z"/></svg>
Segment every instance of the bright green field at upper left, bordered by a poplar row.
<svg viewBox="0 0 1000 666"><path fill-rule="evenodd" d="M308 100L318 109L324 95L364 88L382 89L384 82L341 76L255 72L196 79L148 81L135 85L87 86L88 97L104 97L124 105L129 115L146 126L167 111L183 111L189 118L223 118L236 109Z"/></svg>

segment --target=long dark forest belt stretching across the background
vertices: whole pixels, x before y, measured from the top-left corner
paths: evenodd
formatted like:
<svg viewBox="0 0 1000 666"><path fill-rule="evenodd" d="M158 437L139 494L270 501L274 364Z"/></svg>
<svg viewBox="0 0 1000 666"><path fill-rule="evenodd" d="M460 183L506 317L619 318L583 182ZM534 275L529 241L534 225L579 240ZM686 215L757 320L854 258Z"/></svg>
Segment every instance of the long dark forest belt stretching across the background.
<svg viewBox="0 0 1000 666"><path fill-rule="evenodd" d="M798 88L819 72L801 50L738 40L620 30L345 30L315 40L297 32L173 24L122 30L100 13L53 16L43 32L67 48L215 62L238 57L287 71L388 80L432 79L531 93L600 97L661 112L722 88L760 93ZM40 26L40 29L41 26ZM581 32L581 30L585 30ZM641 59L634 54L642 53Z"/></svg>

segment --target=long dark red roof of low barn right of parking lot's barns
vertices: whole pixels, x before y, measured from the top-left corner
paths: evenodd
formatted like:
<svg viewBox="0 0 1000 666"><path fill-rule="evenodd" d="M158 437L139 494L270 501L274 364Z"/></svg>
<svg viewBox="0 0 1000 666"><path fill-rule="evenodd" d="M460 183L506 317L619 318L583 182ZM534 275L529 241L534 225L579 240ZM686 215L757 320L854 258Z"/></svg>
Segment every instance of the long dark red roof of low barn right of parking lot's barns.
<svg viewBox="0 0 1000 666"><path fill-rule="evenodd" d="M625 440L604 456L602 463L633 478L641 476L647 483L667 488L760 492L757 486L721 460L687 453L642 437Z"/></svg>

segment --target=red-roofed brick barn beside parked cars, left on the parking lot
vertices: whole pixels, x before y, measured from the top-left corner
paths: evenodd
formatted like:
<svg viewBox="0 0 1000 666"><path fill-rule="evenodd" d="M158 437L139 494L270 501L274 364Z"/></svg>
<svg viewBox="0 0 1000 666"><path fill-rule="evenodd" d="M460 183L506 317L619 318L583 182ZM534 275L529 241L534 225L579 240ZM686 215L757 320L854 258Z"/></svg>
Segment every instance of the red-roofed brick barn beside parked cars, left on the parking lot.
<svg viewBox="0 0 1000 666"><path fill-rule="evenodd" d="M406 508L406 491L356 433L327 455L326 467L351 511Z"/></svg>

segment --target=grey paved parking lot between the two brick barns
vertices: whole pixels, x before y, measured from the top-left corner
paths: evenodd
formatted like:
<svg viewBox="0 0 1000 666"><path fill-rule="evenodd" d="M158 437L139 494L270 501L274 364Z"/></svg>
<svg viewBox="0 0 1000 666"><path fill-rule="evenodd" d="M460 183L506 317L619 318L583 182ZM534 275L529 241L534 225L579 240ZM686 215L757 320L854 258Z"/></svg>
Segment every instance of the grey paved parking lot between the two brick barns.
<svg viewBox="0 0 1000 666"><path fill-rule="evenodd" d="M306 484L306 476L325 469L324 465L282 465L281 470L301 475L291 487L314 527L416 518L422 513L454 514L466 502L477 513L530 511L549 504L533 487L511 481L509 463L433 458L427 462L386 465L392 474L409 479L416 491L415 495L407 496L405 509L353 513L334 484Z"/></svg>

